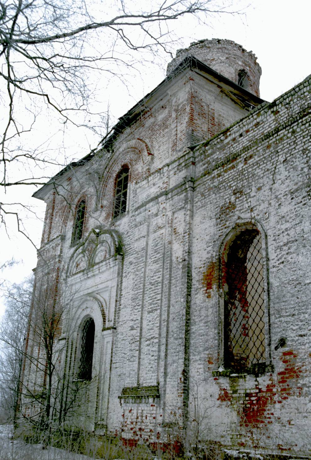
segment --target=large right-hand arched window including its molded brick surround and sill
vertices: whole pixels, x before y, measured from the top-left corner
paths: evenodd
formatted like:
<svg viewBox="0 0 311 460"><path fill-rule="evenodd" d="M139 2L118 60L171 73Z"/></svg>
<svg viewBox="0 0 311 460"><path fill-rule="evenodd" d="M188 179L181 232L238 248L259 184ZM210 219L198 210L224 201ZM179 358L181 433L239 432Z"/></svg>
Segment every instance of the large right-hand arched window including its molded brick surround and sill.
<svg viewBox="0 0 311 460"><path fill-rule="evenodd" d="M266 233L237 224L220 250L220 356L225 369L258 374L271 364Z"/></svg>

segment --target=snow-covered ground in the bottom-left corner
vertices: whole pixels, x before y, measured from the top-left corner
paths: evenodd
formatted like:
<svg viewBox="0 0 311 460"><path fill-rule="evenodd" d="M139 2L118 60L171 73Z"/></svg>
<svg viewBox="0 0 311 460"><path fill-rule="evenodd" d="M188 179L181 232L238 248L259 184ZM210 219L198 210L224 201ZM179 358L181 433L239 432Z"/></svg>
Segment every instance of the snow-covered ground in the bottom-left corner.
<svg viewBox="0 0 311 460"><path fill-rule="evenodd" d="M66 450L48 447L42 444L27 444L12 440L12 426L0 425L0 460L90 460L92 457L73 454Z"/></svg>

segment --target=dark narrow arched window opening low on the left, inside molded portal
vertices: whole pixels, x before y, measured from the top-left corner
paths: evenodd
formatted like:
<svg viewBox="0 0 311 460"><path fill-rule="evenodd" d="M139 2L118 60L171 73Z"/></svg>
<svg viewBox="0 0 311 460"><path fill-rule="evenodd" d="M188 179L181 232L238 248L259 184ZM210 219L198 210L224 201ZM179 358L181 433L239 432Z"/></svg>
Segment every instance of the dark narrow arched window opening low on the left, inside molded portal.
<svg viewBox="0 0 311 460"><path fill-rule="evenodd" d="M91 380L92 379L92 362L93 362L93 349L94 349L94 335L95 323L92 318L88 318L81 331L81 345L80 345L80 362L78 379Z"/></svg>

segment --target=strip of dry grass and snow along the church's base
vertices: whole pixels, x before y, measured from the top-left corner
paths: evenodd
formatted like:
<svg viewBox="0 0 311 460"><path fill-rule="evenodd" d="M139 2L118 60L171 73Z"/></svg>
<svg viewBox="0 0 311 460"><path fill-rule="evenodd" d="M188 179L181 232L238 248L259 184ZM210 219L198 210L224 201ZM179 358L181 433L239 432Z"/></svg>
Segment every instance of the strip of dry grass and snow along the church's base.
<svg viewBox="0 0 311 460"><path fill-rule="evenodd" d="M28 441L26 442L25 439ZM247 449L225 449L220 443L199 442L188 444L187 451L178 454L174 449L152 450L151 446L138 444L126 446L118 437L99 437L86 431L57 430L44 448L38 437L31 438L30 431L20 430L12 439L12 426L0 426L1 460L307 460L308 455L268 454Z"/></svg>

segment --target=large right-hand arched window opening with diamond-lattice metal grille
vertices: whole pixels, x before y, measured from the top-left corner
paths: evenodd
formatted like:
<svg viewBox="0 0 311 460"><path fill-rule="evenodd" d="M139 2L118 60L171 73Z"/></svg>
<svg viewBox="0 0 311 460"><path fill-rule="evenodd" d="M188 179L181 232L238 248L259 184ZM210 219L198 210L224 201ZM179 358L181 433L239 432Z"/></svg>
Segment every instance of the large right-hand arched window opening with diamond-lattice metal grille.
<svg viewBox="0 0 311 460"><path fill-rule="evenodd" d="M224 267L224 364L237 372L265 368L263 272L259 230L241 231L230 244Z"/></svg>

